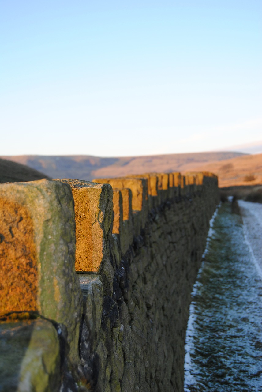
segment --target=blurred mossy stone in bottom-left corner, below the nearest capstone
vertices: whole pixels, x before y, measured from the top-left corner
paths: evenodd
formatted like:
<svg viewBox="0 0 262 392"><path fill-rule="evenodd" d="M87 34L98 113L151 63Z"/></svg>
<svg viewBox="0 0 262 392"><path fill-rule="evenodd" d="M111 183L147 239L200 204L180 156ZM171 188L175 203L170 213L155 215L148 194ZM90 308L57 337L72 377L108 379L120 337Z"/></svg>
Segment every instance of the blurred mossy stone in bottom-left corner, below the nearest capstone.
<svg viewBox="0 0 262 392"><path fill-rule="evenodd" d="M60 348L47 320L0 324L0 391L54 392L60 387Z"/></svg>

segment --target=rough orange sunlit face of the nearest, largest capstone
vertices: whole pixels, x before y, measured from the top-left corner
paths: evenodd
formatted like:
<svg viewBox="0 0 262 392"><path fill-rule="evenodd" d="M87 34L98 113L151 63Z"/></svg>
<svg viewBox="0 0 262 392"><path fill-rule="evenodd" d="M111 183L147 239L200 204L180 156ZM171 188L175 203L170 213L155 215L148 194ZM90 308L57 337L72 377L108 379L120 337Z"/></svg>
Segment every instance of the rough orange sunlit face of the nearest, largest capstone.
<svg viewBox="0 0 262 392"><path fill-rule="evenodd" d="M0 316L37 310L33 221L25 207L0 199Z"/></svg>

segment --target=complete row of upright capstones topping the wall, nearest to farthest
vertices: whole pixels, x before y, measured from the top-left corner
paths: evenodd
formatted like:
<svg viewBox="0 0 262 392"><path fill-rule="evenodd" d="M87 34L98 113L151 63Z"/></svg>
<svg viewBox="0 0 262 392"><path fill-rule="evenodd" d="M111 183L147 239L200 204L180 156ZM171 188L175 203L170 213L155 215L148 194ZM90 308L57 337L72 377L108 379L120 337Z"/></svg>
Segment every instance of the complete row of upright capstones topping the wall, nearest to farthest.
<svg viewBox="0 0 262 392"><path fill-rule="evenodd" d="M77 362L82 299L75 271L101 274L112 233L125 254L152 209L201 190L207 177L217 182L207 172L174 172L1 184L0 318L28 313L65 325Z"/></svg>

